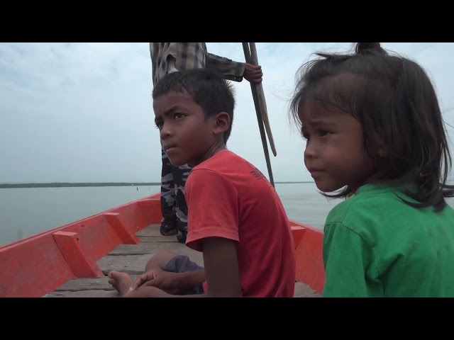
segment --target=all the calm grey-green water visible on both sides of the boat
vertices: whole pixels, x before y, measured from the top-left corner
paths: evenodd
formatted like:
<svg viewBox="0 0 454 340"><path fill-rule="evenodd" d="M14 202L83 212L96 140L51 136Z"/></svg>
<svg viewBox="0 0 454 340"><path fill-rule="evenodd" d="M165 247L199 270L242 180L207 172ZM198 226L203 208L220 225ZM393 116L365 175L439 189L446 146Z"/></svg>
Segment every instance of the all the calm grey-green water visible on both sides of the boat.
<svg viewBox="0 0 454 340"><path fill-rule="evenodd" d="M319 229L329 210L341 202L321 196L314 183L276 184L276 190L290 219ZM159 186L0 189L0 245L159 191Z"/></svg>

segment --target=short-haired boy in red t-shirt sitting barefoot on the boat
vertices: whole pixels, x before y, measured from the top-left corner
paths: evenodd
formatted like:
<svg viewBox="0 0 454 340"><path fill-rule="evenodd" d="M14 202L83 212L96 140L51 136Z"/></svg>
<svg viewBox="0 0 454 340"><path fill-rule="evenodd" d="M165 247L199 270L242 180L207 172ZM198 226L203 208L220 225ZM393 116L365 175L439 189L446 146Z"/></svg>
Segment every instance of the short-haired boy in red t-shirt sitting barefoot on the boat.
<svg viewBox="0 0 454 340"><path fill-rule="evenodd" d="M275 188L258 169L226 149L235 99L207 69L167 74L153 90L162 149L174 166L193 167L186 184L187 256L161 251L133 282L109 273L125 297L293 297L294 242Z"/></svg>

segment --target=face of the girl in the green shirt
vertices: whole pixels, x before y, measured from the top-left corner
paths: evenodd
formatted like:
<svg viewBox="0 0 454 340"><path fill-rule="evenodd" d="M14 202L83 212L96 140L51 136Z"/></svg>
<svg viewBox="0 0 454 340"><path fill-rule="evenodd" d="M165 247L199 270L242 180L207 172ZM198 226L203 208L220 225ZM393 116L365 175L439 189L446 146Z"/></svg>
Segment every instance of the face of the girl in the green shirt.
<svg viewBox="0 0 454 340"><path fill-rule="evenodd" d="M309 101L299 108L307 140L304 164L317 188L332 192L348 186L355 192L373 175L358 120L335 106Z"/></svg>

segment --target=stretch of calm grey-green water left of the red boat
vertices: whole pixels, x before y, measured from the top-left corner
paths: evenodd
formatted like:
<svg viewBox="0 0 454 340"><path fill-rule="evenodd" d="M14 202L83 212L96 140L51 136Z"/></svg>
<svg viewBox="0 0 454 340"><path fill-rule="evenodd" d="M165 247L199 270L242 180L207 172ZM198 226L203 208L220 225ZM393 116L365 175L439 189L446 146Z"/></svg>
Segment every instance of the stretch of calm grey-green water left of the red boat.
<svg viewBox="0 0 454 340"><path fill-rule="evenodd" d="M0 189L0 245L153 195L159 186Z"/></svg>

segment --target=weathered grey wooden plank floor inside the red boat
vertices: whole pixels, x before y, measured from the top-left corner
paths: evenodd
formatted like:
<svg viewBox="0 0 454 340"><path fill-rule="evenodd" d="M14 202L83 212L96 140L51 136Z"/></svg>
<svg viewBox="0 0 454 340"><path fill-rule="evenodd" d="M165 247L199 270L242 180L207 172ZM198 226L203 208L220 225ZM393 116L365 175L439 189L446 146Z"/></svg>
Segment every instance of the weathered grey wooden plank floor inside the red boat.
<svg viewBox="0 0 454 340"><path fill-rule="evenodd" d="M96 264L101 268L104 277L74 278L60 285L54 292L44 297L118 297L117 291L109 284L107 274L110 271L129 273L133 279L143 273L145 264L156 251L167 249L177 254L189 256L192 261L204 265L203 256L199 251L189 249L177 242L176 235L162 236L159 225L150 225L136 233L139 244L121 244ZM294 297L319 297L315 290L304 283L295 283Z"/></svg>

